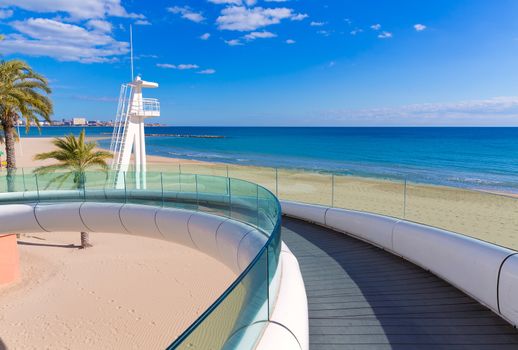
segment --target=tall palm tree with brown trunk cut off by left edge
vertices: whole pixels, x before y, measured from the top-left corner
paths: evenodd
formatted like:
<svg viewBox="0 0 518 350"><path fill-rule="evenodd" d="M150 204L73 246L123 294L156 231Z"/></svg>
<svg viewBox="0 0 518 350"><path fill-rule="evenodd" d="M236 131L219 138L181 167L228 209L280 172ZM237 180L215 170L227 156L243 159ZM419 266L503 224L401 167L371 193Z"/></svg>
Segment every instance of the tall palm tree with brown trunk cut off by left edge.
<svg viewBox="0 0 518 350"><path fill-rule="evenodd" d="M15 127L25 119L27 130L31 123L40 126L39 118L50 121L52 102L48 81L20 60L0 62L0 125L4 132L9 191L14 191L12 174L16 170L14 150Z"/></svg>

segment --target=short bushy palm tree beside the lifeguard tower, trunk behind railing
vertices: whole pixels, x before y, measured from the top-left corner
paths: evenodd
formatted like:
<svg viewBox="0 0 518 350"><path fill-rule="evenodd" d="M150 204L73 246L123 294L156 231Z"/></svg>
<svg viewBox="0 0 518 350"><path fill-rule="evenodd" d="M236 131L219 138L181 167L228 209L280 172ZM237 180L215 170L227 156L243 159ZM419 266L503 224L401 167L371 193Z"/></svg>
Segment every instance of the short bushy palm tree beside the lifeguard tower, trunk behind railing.
<svg viewBox="0 0 518 350"><path fill-rule="evenodd" d="M34 160L55 159L59 163L41 166L34 171L36 174L45 175L60 171L60 175L54 178L55 182L63 184L73 176L74 186L77 189L84 189L87 170L97 169L108 172L106 161L112 157L112 154L95 150L97 146L95 142L85 142L84 129L78 138L70 134L64 138L55 138L52 143L57 148L55 151L37 154ZM81 248L87 247L91 247L90 237L87 232L81 232Z"/></svg>

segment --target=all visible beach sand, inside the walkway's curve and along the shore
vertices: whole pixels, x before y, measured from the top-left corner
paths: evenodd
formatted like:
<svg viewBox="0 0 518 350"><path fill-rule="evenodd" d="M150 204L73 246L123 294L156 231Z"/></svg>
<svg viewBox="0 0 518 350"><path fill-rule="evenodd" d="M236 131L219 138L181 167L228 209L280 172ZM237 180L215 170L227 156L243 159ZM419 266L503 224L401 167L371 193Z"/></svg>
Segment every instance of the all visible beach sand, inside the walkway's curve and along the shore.
<svg viewBox="0 0 518 350"><path fill-rule="evenodd" d="M50 141L24 138L18 167L44 164L32 158L51 150ZM281 199L406 218L518 249L518 200L505 194L156 156L148 163L149 171L228 175ZM0 289L0 338L8 348L163 348L235 277L184 247L92 236L95 247L85 251L61 247L77 244L78 233L21 238L23 279Z"/></svg>

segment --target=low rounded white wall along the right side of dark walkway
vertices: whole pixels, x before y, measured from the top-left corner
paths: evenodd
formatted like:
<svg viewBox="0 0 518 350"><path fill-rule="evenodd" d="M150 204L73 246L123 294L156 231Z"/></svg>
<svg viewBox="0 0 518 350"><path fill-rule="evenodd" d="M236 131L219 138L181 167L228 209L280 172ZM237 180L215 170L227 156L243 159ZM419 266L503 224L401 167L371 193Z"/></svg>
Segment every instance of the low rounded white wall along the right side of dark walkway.
<svg viewBox="0 0 518 350"><path fill-rule="evenodd" d="M381 215L281 202L283 214L379 246L429 270L518 325L516 252L464 235Z"/></svg>

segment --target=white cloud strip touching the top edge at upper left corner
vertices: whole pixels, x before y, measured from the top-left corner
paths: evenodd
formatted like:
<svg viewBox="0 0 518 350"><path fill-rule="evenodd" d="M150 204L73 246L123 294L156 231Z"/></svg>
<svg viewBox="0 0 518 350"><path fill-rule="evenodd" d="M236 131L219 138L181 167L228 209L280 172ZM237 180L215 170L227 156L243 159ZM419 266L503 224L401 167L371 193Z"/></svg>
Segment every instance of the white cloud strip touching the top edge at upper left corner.
<svg viewBox="0 0 518 350"><path fill-rule="evenodd" d="M0 0L0 7L8 6L40 13L64 12L75 19L144 18L140 14L128 13L121 0Z"/></svg>

